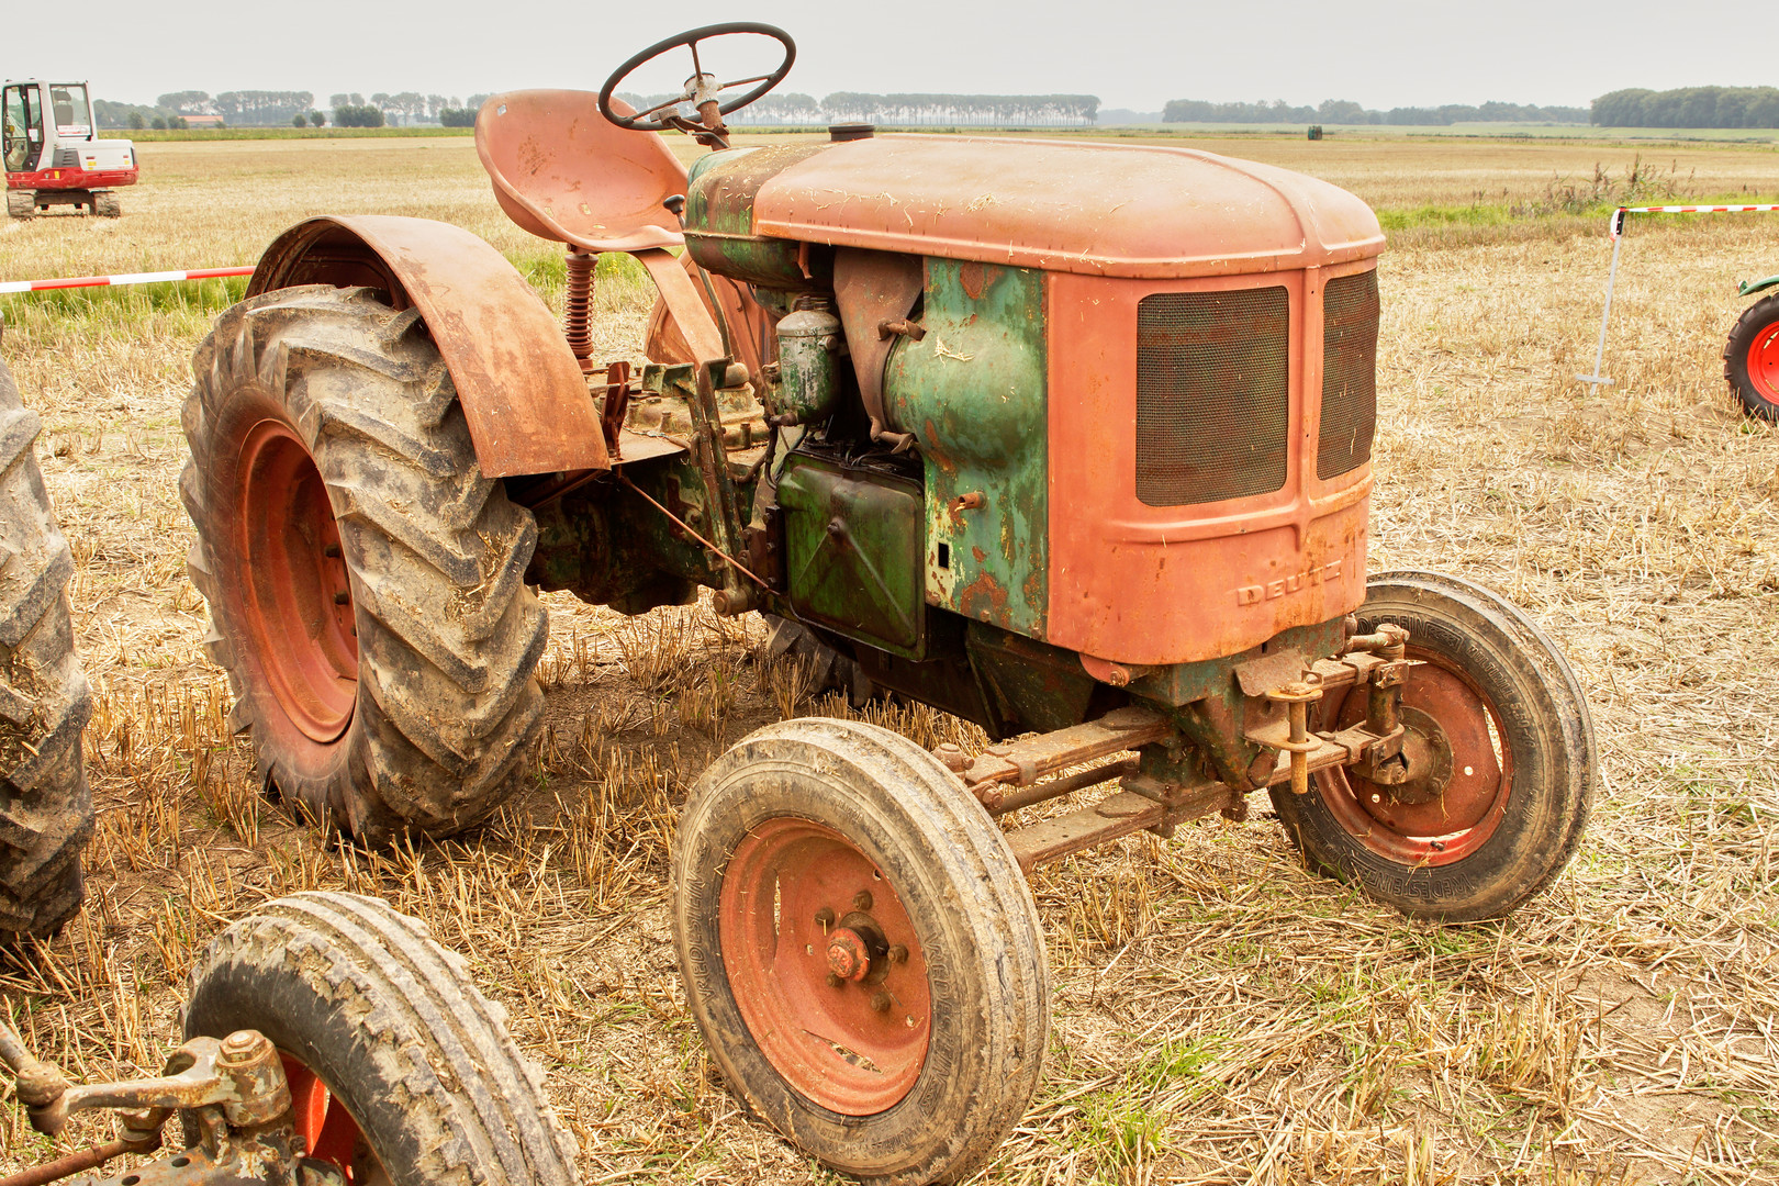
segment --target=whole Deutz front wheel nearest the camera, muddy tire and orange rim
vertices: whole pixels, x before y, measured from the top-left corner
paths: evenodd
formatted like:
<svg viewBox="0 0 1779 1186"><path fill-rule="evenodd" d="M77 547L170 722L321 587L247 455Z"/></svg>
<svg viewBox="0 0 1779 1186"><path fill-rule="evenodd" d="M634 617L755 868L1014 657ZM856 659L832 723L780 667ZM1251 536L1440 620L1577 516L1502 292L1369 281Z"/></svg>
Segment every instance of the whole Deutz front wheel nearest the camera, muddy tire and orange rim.
<svg viewBox="0 0 1779 1186"><path fill-rule="evenodd" d="M1050 1026L1032 893L907 738L801 718L738 741L680 820L672 910L729 1090L824 1165L957 1181L1030 1104Z"/></svg>

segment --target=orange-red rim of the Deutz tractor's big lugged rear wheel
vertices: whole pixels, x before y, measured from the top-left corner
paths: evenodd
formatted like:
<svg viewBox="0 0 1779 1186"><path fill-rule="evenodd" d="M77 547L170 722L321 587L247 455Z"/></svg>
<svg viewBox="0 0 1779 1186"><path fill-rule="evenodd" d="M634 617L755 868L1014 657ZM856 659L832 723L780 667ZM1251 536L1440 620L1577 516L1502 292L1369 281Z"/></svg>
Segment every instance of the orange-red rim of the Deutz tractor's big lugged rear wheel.
<svg viewBox="0 0 1779 1186"><path fill-rule="evenodd" d="M237 473L254 654L290 722L311 741L336 741L358 702L358 621L327 485L279 420L247 430Z"/></svg>

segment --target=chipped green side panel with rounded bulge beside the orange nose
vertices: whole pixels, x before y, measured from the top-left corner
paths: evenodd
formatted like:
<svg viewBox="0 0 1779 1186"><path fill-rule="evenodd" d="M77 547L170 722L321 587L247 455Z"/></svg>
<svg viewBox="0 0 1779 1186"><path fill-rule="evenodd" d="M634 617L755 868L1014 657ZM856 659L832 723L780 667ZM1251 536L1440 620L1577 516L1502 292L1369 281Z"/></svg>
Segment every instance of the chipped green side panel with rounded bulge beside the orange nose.
<svg viewBox="0 0 1779 1186"><path fill-rule="evenodd" d="M927 260L922 325L890 356L884 407L927 466L927 601L1044 638L1044 274Z"/></svg>

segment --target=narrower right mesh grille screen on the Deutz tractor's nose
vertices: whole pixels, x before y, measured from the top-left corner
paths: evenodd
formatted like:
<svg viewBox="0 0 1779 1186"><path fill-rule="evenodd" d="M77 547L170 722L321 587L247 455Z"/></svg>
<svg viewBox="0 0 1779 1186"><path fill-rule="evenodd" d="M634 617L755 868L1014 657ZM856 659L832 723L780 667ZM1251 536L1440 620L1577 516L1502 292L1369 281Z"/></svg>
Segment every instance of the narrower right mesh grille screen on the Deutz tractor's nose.
<svg viewBox="0 0 1779 1186"><path fill-rule="evenodd" d="M1322 439L1327 482L1372 459L1377 429L1377 272L1329 281L1322 293Z"/></svg>

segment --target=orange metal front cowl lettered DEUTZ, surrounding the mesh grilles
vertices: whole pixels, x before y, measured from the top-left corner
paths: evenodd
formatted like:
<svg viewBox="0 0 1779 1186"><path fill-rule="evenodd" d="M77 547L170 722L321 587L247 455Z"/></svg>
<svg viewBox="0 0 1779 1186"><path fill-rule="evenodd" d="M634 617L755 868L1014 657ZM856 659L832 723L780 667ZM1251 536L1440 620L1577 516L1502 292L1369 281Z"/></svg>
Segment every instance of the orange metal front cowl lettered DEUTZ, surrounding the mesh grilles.
<svg viewBox="0 0 1779 1186"><path fill-rule="evenodd" d="M1283 489L1187 507L1137 496L1139 304L1252 283L1048 277L1050 505L1069 509L1050 523L1051 644L1124 665L1194 663L1364 601L1372 468L1315 475L1316 400L1306 393L1322 384L1318 274L1263 277L1290 295Z"/></svg>

